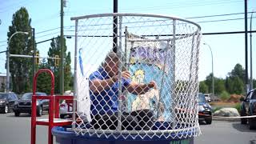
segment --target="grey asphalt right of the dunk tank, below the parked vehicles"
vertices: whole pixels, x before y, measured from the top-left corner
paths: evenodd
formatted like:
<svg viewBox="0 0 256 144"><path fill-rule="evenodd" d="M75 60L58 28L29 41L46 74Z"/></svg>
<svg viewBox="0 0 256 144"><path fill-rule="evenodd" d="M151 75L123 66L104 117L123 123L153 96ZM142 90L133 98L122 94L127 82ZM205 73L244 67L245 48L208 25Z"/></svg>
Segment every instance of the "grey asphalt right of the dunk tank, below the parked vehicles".
<svg viewBox="0 0 256 144"><path fill-rule="evenodd" d="M256 144L256 130L240 121L217 121L211 125L200 122L202 134L194 138L194 144Z"/></svg>

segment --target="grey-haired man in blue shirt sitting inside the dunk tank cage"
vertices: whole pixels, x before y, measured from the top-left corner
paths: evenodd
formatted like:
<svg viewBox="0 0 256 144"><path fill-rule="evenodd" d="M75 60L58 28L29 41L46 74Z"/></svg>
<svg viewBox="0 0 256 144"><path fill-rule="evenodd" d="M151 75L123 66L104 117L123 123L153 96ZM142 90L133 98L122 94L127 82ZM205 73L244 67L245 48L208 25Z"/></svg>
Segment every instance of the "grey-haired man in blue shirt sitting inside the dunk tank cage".
<svg viewBox="0 0 256 144"><path fill-rule="evenodd" d="M122 79L118 76L119 58L114 52L107 54L105 62L97 71L90 74L90 106L91 125L94 129L117 130L118 126L118 82L122 81L122 91L132 94L146 94L157 89L154 81L138 83L131 80L129 71L122 71ZM154 114L150 109L135 110L121 115L122 130L150 130L154 125Z"/></svg>

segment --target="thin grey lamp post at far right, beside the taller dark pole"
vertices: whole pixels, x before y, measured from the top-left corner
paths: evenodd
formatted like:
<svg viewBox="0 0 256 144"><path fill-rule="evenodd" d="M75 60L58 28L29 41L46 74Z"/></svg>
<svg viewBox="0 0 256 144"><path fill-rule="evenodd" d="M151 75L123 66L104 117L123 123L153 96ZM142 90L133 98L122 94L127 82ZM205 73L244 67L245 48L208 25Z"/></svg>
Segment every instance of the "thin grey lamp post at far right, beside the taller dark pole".
<svg viewBox="0 0 256 144"><path fill-rule="evenodd" d="M251 23L252 23L252 18L253 18L254 11L250 14L250 90L254 88L253 84L253 50L252 50L252 34L251 34Z"/></svg>

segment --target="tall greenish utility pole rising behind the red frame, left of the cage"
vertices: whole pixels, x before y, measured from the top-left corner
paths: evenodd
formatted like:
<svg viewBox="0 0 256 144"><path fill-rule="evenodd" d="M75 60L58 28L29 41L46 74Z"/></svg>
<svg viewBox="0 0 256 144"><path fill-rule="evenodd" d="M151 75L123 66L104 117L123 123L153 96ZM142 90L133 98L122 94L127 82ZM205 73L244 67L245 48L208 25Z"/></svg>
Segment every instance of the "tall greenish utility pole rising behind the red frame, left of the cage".
<svg viewBox="0 0 256 144"><path fill-rule="evenodd" d="M60 65L60 94L64 94L64 46L63 46L63 15L64 15L64 12L63 12L63 0L61 0L61 37L60 37L60 46L61 46L61 65Z"/></svg>

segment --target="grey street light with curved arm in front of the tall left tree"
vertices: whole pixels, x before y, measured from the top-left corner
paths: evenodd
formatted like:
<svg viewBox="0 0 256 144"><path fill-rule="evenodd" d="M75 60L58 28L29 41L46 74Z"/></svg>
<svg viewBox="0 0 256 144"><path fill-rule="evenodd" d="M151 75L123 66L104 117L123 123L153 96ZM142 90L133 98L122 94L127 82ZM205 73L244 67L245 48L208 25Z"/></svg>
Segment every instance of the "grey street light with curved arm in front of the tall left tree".
<svg viewBox="0 0 256 144"><path fill-rule="evenodd" d="M24 31L16 31L14 34L12 34L8 41L8 46L6 50L6 92L10 92L10 40L14 37L15 34L29 34L28 32Z"/></svg>

